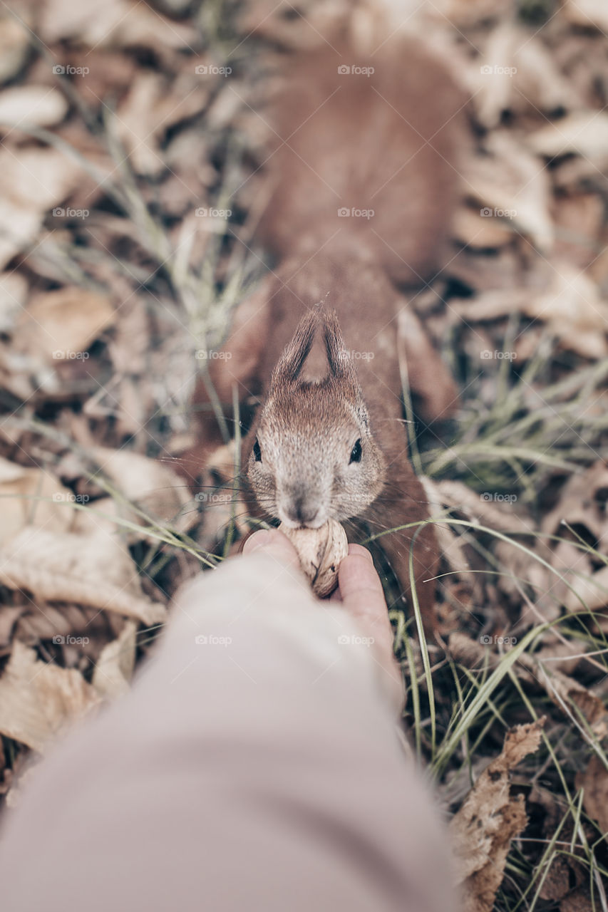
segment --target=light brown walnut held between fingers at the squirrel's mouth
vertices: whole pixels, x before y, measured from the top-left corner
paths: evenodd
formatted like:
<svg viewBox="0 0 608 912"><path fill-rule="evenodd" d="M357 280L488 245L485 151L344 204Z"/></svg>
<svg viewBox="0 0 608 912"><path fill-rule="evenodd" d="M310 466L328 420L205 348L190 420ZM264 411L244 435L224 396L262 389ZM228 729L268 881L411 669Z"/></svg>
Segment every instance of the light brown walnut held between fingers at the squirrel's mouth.
<svg viewBox="0 0 608 912"><path fill-rule="evenodd" d="M312 591L319 598L329 596L338 586L338 567L349 553L349 543L341 524L330 519L319 529L289 529L281 524L295 547L299 563L310 580Z"/></svg>

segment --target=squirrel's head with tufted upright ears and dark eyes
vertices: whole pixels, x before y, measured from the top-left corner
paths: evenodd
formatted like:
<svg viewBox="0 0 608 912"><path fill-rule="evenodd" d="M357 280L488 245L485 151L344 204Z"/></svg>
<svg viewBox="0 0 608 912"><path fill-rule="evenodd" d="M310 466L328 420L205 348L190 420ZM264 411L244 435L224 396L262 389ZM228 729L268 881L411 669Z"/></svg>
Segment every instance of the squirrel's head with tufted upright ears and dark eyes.
<svg viewBox="0 0 608 912"><path fill-rule="evenodd" d="M328 373L300 379L321 328ZM304 316L270 378L246 473L260 506L291 528L360 515L383 488L362 390L334 311Z"/></svg>

